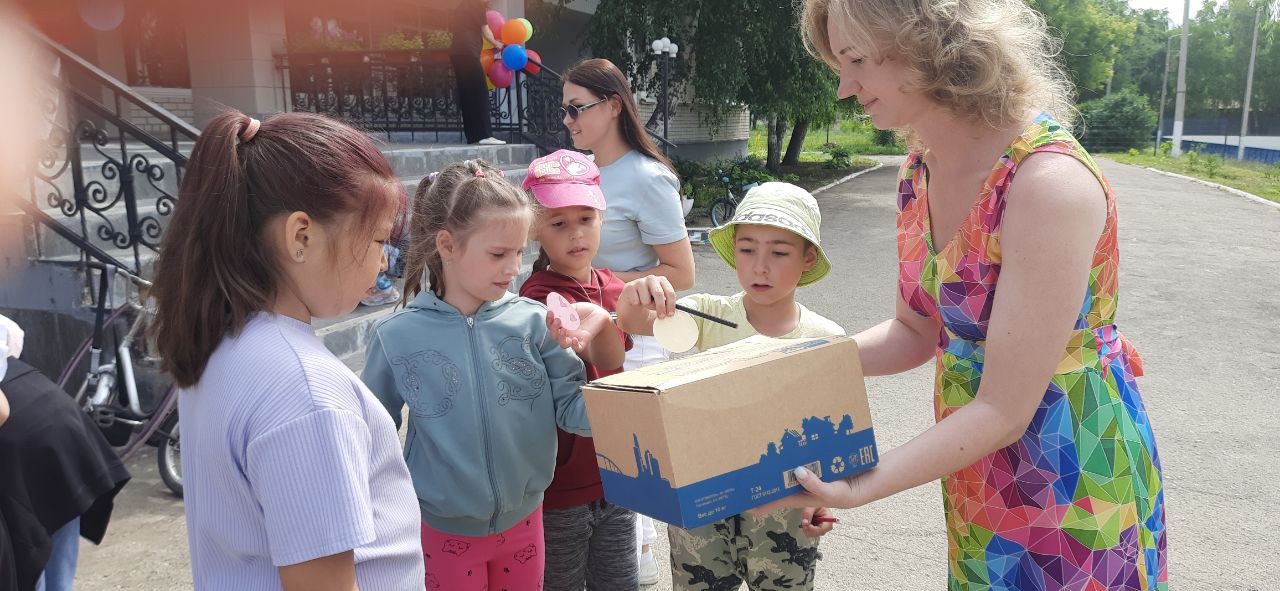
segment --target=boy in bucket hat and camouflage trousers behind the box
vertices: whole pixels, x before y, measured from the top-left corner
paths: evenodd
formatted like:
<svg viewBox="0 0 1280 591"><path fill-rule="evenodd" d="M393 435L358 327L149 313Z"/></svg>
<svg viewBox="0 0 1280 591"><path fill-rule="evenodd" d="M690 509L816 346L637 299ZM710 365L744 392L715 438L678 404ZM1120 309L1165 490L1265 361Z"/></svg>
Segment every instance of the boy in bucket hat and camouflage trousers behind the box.
<svg viewBox="0 0 1280 591"><path fill-rule="evenodd" d="M797 287L831 270L819 243L820 225L818 202L800 187L764 183L746 193L733 219L710 233L712 246L737 271L742 290L733 296L699 293L678 302L737 324L731 329L694 317L699 351L756 334L783 339L845 334L840 325L795 301ZM654 292L667 297L655 301L649 297ZM653 334L654 320L675 313L675 303L666 278L636 279L618 297L618 326L630 334ZM746 582L753 591L812 590L820 558L818 537L831 531L831 523L815 526L813 518L827 513L782 509L762 517L733 516L692 530L668 526L675 588L737 588Z"/></svg>

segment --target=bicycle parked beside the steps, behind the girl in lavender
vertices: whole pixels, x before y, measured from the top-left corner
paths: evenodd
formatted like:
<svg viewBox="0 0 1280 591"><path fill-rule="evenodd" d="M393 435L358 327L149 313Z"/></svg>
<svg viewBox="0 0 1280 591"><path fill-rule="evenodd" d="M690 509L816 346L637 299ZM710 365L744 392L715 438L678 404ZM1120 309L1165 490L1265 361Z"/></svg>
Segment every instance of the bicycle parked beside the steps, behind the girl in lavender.
<svg viewBox="0 0 1280 591"><path fill-rule="evenodd" d="M155 446L160 480L173 494L182 496L182 440L178 427L178 389L169 385L154 408L143 409L134 376L133 351L146 322L155 316L154 307L146 304L147 281L115 265L88 261L87 269L97 270L99 285L93 304L93 334L84 339L58 379L67 385L84 354L90 356L84 379L74 390L74 399L88 413L106 440L115 448L123 462L128 462L143 445ZM124 303L111 306L115 293L115 275L123 275ZM132 289L131 289L132 287ZM119 336L116 320L132 313L129 329ZM109 330L110 329L110 330ZM113 347L106 347L110 333ZM142 342L145 344L145 339ZM154 357L148 357L154 361ZM68 390L72 391L72 390Z"/></svg>

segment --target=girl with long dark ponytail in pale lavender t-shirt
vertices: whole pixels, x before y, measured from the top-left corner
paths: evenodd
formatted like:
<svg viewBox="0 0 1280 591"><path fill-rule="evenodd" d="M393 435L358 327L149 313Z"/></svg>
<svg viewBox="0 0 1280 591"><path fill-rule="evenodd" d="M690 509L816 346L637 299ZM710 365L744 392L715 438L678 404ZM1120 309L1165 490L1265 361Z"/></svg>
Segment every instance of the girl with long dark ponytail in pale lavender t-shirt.
<svg viewBox="0 0 1280 591"><path fill-rule="evenodd" d="M154 289L196 588L424 587L396 427L311 326L355 310L401 203L332 119L224 113L196 142Z"/></svg>

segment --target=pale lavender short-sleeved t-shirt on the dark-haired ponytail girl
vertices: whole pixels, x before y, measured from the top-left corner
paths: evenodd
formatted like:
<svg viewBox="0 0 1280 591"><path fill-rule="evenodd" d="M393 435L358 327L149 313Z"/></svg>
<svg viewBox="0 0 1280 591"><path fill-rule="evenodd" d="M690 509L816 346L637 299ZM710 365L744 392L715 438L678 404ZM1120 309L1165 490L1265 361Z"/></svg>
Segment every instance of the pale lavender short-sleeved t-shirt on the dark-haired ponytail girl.
<svg viewBox="0 0 1280 591"><path fill-rule="evenodd" d="M360 588L424 588L396 426L311 325L253 315L180 393L179 416L197 590L279 590L278 567L347 550Z"/></svg>

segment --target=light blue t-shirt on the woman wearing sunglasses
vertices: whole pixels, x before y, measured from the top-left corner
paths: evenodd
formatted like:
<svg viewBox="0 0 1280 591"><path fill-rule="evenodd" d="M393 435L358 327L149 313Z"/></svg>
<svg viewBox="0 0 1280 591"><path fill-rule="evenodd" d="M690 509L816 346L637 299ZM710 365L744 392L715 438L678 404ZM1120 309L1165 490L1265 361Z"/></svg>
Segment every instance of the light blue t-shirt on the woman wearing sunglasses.
<svg viewBox="0 0 1280 591"><path fill-rule="evenodd" d="M689 238L680 179L662 162L635 150L600 166L604 226L593 265L614 272L658 266L654 244Z"/></svg>

